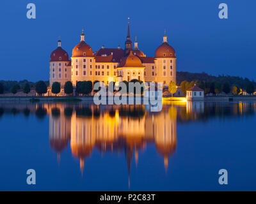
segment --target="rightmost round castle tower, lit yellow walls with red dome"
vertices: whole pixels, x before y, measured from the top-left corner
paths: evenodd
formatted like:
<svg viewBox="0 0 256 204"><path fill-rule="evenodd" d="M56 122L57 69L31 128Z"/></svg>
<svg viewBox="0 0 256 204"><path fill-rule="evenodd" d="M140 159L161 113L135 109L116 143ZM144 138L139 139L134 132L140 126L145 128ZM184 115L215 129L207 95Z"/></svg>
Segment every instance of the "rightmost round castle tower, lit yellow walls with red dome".
<svg viewBox="0 0 256 204"><path fill-rule="evenodd" d="M163 43L157 47L155 52L155 63L157 68L156 82L163 82L164 86L176 82L176 54L175 50L167 42L164 31Z"/></svg>

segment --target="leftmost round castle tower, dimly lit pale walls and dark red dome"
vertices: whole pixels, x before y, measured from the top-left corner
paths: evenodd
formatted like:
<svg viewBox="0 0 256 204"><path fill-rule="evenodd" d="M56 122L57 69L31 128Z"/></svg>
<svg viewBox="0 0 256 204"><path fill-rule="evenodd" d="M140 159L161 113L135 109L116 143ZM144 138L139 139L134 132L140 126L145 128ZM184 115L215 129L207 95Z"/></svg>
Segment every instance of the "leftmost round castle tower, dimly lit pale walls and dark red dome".
<svg viewBox="0 0 256 204"><path fill-rule="evenodd" d="M61 47L58 40L58 47L52 51L50 57L50 86L53 82L60 82L64 86L65 82L71 80L71 66L68 54Z"/></svg>

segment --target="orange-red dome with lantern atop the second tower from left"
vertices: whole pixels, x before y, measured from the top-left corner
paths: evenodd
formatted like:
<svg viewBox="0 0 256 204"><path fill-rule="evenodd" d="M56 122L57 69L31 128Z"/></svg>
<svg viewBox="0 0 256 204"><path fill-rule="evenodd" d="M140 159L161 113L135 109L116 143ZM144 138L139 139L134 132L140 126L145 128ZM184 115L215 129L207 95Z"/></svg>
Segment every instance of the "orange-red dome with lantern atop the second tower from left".
<svg viewBox="0 0 256 204"><path fill-rule="evenodd" d="M84 41L84 34L82 31L81 41L72 50L72 57L93 57L93 50L90 45L87 45Z"/></svg>

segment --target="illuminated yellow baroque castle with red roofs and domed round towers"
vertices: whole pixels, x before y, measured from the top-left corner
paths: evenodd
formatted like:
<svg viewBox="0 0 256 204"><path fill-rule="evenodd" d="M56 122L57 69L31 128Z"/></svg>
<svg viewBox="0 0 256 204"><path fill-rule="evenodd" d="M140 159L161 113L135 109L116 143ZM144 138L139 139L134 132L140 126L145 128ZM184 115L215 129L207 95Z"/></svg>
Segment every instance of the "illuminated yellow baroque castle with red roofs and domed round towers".
<svg viewBox="0 0 256 204"><path fill-rule="evenodd" d="M50 86L53 82L71 81L74 86L79 81L122 82L137 79L143 82L163 82L163 85L176 82L175 50L167 42L164 32L163 43L157 47L154 57L147 57L139 48L138 41L132 41L128 22L125 48L105 48L97 52L84 40L82 31L80 43L72 50L71 60L58 41L58 48L51 53ZM63 91L62 91L63 92ZM62 93L63 94L63 93Z"/></svg>

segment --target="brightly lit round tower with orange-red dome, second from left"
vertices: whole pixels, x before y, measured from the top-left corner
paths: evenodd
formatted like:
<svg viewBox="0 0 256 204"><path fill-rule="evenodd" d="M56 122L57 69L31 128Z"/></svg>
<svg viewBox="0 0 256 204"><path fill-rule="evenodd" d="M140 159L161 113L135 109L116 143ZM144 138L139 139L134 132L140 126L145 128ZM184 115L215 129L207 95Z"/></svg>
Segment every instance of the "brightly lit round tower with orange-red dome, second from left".
<svg viewBox="0 0 256 204"><path fill-rule="evenodd" d="M90 45L86 44L84 41L83 30L80 43L78 43L72 50L71 64L73 85L76 85L76 82L79 81L93 81L92 68L95 64L95 57L93 56L92 47L90 47Z"/></svg>

